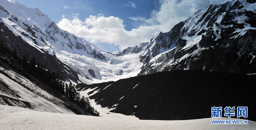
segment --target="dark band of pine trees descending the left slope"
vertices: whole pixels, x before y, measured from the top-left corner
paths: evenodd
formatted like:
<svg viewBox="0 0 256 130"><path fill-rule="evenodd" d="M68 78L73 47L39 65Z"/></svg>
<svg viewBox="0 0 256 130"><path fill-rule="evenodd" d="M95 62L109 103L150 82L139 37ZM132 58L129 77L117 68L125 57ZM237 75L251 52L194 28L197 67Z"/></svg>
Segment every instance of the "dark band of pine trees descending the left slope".
<svg viewBox="0 0 256 130"><path fill-rule="evenodd" d="M51 73L41 63L36 62L35 56L31 57L27 53L27 55L20 57L15 50L10 50L7 45L4 44L4 41L1 38L0 55L2 55L2 57L6 57L6 59L9 60L7 62L9 62L12 67L19 69L19 71L25 75L28 75L28 77L34 77L32 78L33 80L37 79L43 85L46 85L56 90L56 92L65 95L70 101L76 103L81 109L84 109L84 114L91 114L94 116L99 115L97 110L91 107L88 97L81 97L74 84L70 82L68 85L67 83L63 82L63 78L59 76L58 72ZM28 60L28 57L31 57L31 59Z"/></svg>

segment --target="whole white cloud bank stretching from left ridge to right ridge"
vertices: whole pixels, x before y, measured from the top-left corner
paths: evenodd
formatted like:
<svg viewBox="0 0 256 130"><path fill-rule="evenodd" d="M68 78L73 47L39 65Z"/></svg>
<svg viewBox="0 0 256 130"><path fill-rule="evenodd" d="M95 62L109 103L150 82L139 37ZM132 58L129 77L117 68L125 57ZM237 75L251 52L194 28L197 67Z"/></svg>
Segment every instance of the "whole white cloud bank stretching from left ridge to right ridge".
<svg viewBox="0 0 256 130"><path fill-rule="evenodd" d="M130 17L131 20L142 20L138 28L125 30L123 20L118 17L89 16L84 21L74 15L73 20L63 17L57 25L78 37L83 37L90 43L114 43L120 50L150 41L157 33L167 32L180 21L186 20L197 10L209 7L210 4L220 4L228 0L161 0L160 10L152 10L151 18ZM129 2L131 4L131 2ZM124 5L131 6L131 5ZM136 6L136 5L135 5Z"/></svg>

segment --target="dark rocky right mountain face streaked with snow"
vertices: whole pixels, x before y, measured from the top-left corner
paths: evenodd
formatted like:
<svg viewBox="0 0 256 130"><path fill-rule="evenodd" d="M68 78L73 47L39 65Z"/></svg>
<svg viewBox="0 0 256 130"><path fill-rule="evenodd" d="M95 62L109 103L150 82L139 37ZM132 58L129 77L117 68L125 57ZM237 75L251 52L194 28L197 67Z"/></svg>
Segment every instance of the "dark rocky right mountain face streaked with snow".
<svg viewBox="0 0 256 130"><path fill-rule="evenodd" d="M249 0L250 3L255 3ZM248 0L247 0L248 2ZM255 29L246 30L238 35L235 31L245 27L256 27L256 13L244 10L239 1L227 2L220 6L199 10L183 23L178 23L170 32L159 33L151 43L156 43L152 50L140 57L144 65L138 75L151 74L169 70L207 70L234 73L256 73L256 35ZM240 10L240 11L233 11ZM238 21L247 17L243 22ZM222 20L217 23L217 18ZM175 30L175 31L174 31ZM170 36L175 36L173 40ZM197 36L196 36L197 35ZM201 37L200 41L191 47L186 47L184 37ZM175 43L175 50L167 50L159 59L151 61L158 54L158 41ZM170 51L170 52L169 52ZM169 55L170 54L170 55ZM242 62L244 61L244 62Z"/></svg>

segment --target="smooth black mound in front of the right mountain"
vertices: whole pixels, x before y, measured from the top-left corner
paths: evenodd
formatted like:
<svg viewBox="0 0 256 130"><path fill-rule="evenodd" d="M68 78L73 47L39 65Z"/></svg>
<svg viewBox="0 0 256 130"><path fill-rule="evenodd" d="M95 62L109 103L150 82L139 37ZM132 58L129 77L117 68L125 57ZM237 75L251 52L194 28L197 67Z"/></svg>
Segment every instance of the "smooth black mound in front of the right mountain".
<svg viewBox="0 0 256 130"><path fill-rule="evenodd" d="M77 84L76 88L97 87L89 92L99 91L90 99L102 107L118 104L112 112L143 120L210 118L211 107L248 107L245 119L256 121L255 79L256 75L173 70L116 82Z"/></svg>

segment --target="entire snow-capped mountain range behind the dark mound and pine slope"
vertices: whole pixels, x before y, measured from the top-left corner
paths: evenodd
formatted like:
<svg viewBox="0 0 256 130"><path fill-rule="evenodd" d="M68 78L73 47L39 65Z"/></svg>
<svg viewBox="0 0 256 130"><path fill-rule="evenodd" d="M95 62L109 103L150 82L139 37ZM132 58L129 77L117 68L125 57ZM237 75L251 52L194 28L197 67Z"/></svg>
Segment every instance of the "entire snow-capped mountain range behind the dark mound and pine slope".
<svg viewBox="0 0 256 130"><path fill-rule="evenodd" d="M65 80L98 83L166 70L256 73L256 3L210 5L150 42L112 54L61 30L38 8L0 0L0 36Z"/></svg>

